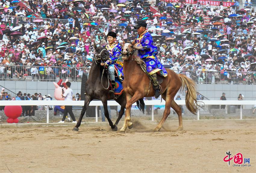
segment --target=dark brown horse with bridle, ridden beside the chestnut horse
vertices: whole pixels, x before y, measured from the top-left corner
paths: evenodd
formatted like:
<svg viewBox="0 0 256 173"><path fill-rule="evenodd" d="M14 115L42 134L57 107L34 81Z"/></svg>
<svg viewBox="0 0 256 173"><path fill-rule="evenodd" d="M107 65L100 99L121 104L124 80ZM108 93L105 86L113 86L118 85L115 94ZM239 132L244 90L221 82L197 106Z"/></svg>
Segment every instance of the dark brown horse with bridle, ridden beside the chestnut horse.
<svg viewBox="0 0 256 173"><path fill-rule="evenodd" d="M108 119L108 123L111 126L111 129L113 131L117 131L117 124L123 116L125 105L126 105L126 99L124 96L124 92L117 99L115 99L115 101L120 104L121 109L118 114L116 123L113 124L113 122L109 118L109 113L108 113L108 108L107 108L107 106L108 106L107 101L109 99L109 94L108 94L109 90L105 89L102 86L102 85L104 85L105 87L108 86L108 77L107 77L108 74L104 73L103 76L101 76L104 67L100 65L101 58L108 59L109 53L108 53L107 49L105 49L101 46L96 47L95 43L94 43L94 49L95 49L95 56L93 58L94 61L92 62L92 67L90 69L89 78L85 84L85 93L81 93L81 94L85 94L84 106L83 106L80 118L79 118L76 126L73 128L73 130L78 131L78 127L81 124L83 115L85 114L86 109L89 106L89 103L93 99L98 99L98 100L101 100L101 102L104 106L105 117ZM102 79L101 79L101 77L102 77Z"/></svg>

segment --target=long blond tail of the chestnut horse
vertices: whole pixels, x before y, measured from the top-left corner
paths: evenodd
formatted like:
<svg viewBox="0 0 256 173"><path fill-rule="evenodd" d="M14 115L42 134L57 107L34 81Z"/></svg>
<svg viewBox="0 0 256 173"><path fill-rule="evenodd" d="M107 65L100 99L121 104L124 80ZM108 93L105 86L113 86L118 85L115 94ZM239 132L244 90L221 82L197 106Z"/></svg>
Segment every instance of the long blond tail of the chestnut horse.
<svg viewBox="0 0 256 173"><path fill-rule="evenodd" d="M187 88L186 92L186 106L192 114L198 111L198 102L196 100L196 84L192 79L189 79L183 74L178 75L181 79L181 89Z"/></svg>

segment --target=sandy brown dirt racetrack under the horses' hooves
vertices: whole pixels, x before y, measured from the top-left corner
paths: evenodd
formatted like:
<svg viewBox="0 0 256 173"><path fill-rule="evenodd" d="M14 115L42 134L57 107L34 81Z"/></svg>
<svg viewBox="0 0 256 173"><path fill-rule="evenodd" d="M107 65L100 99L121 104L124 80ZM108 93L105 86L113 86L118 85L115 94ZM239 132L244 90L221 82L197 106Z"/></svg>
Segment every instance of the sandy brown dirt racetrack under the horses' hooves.
<svg viewBox="0 0 256 173"><path fill-rule="evenodd" d="M79 132L73 125L1 128L0 172L255 173L255 122L184 121L179 132L172 131L177 121L167 121L160 132L139 121L126 133L84 125ZM233 160L228 166L228 150L250 158L251 167L233 167Z"/></svg>

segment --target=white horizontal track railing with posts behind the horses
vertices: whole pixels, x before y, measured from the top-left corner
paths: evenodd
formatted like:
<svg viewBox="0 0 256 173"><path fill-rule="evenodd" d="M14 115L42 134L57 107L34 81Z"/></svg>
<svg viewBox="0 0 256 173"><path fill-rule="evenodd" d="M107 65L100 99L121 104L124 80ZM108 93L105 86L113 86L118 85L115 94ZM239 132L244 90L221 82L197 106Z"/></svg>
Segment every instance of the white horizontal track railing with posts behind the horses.
<svg viewBox="0 0 256 173"><path fill-rule="evenodd" d="M199 102L203 102L204 105L256 105L255 100L198 100ZM185 105L185 100L175 100L178 105ZM151 113L152 113L152 121L154 121L154 105L165 105L165 101L163 100L144 100L145 105L152 105ZM63 100L1 100L0 106L31 106L31 105L42 105L47 106L47 117L46 123L49 123L49 105L58 106L83 106L84 101L63 101ZM101 101L91 101L89 106L96 106L95 108L95 121L98 122L98 106L102 106ZM136 105L134 103L133 105ZM119 106L116 101L108 101L108 106ZM200 111L197 112L197 120L200 119ZM240 119L242 119L242 106L240 108Z"/></svg>

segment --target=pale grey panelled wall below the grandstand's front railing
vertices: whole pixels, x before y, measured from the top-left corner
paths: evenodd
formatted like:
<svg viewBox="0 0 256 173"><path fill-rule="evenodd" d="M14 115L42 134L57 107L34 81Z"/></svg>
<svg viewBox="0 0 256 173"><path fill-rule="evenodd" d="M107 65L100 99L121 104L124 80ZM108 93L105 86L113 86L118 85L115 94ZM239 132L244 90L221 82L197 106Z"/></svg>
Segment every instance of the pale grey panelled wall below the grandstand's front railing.
<svg viewBox="0 0 256 173"><path fill-rule="evenodd" d="M55 87L53 82L36 82L36 81L0 81L0 85L17 93L34 94L35 92L42 95L54 95ZM73 94L81 92L81 82L71 82ZM220 100L222 93L226 93L227 100L237 100L239 94L243 94L244 100L255 100L256 85L231 85L231 84L197 84L197 91L210 100ZM81 93L80 93L81 94ZM183 97L182 97L183 98Z"/></svg>

